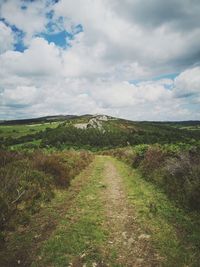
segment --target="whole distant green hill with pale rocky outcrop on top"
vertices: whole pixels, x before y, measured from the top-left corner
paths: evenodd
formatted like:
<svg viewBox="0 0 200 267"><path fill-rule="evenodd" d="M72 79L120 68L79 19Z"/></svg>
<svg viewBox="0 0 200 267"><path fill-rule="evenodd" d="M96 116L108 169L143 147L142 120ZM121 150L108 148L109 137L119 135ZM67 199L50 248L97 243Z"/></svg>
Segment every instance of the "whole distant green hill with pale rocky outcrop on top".
<svg viewBox="0 0 200 267"><path fill-rule="evenodd" d="M18 124L16 124L18 123ZM137 144L198 143L200 122L130 121L106 115L62 115L7 121L0 125L1 145L107 149Z"/></svg>

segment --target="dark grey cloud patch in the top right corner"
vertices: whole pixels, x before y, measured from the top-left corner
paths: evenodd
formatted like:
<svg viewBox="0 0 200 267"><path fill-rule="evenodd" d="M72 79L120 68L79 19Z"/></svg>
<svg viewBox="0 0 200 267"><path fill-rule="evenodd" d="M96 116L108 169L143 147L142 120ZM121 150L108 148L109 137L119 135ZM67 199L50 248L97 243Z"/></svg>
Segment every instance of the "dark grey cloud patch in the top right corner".
<svg viewBox="0 0 200 267"><path fill-rule="evenodd" d="M113 7L125 19L148 28L168 25L181 31L198 28L200 5L198 0L113 0ZM192 16L191 16L192 14Z"/></svg>

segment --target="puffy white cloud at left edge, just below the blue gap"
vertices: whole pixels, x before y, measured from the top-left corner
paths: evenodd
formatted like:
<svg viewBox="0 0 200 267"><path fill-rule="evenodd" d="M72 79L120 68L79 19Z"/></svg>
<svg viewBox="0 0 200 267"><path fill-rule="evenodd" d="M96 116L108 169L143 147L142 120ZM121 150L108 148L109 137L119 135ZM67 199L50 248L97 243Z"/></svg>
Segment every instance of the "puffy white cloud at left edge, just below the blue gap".
<svg viewBox="0 0 200 267"><path fill-rule="evenodd" d="M23 53L7 51L0 57L1 69L11 75L45 76L61 70L59 49L42 38L32 39Z"/></svg>

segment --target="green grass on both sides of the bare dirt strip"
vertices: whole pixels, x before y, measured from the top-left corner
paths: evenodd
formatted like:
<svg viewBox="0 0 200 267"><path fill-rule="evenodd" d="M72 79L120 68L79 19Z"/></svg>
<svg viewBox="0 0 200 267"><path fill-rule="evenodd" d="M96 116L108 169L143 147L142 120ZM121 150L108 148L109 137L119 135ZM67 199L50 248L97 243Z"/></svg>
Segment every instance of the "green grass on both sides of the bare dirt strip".
<svg viewBox="0 0 200 267"><path fill-rule="evenodd" d="M10 233L7 253L0 253L0 265L15 266L20 260L21 266L32 267L121 266L116 263L117 248L109 247L109 226L105 224L102 181L107 160L117 167L136 223L150 235L161 266L199 266L199 215L177 208L125 163L101 156L72 180L68 190L56 190L55 198L44 203L28 226ZM11 264L2 264L3 257L10 258Z"/></svg>

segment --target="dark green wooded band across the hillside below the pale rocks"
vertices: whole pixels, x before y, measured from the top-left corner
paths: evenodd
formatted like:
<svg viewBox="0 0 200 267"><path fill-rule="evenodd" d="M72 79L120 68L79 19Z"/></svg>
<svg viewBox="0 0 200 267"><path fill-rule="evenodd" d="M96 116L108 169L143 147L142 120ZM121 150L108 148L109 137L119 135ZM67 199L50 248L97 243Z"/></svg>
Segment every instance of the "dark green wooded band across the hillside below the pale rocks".
<svg viewBox="0 0 200 267"><path fill-rule="evenodd" d="M13 128L14 129L14 128ZM34 129L31 129L34 130ZM85 149L102 149L124 147L128 144L171 144L184 142L197 144L200 131L189 131L169 125L156 123L135 123L126 120L105 122L102 128L79 129L71 122L60 123L56 128L44 128L42 131L28 133L24 136L0 137L1 146L12 146L28 143L28 147L56 147L63 149L66 146L75 146ZM40 145L35 141L40 140ZM31 144L32 143L32 144Z"/></svg>

